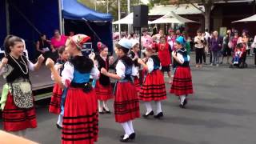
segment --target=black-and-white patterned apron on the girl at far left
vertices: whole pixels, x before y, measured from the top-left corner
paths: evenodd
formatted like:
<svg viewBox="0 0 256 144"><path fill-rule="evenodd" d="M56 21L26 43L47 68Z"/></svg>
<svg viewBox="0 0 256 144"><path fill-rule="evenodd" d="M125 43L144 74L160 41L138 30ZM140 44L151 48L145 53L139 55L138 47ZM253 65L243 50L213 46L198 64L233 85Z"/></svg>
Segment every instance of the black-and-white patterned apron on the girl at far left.
<svg viewBox="0 0 256 144"><path fill-rule="evenodd" d="M29 109L34 106L32 88L30 82L14 82L11 84L11 94L14 104L21 109Z"/></svg>

